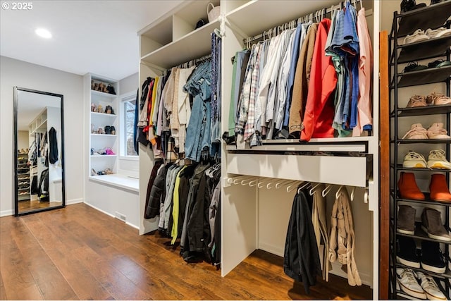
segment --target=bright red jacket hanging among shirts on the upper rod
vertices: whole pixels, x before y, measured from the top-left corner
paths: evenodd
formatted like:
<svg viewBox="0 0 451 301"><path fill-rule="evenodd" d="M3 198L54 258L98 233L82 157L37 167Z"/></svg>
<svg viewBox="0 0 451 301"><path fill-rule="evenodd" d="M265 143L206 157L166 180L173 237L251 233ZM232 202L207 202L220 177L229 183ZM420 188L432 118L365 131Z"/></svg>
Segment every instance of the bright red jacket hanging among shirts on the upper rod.
<svg viewBox="0 0 451 301"><path fill-rule="evenodd" d="M337 85L337 73L324 48L330 28L330 19L324 18L316 34L307 104L305 107L301 140L333 137L333 91Z"/></svg>

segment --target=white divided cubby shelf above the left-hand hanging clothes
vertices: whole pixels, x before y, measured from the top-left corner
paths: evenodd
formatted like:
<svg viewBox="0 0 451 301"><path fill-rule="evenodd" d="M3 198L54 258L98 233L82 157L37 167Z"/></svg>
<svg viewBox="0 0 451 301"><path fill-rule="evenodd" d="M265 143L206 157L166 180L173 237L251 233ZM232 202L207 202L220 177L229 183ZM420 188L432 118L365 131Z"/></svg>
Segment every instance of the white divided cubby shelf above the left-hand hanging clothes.
<svg viewBox="0 0 451 301"><path fill-rule="evenodd" d="M209 3L219 5L219 0L186 1L171 15L163 16L138 32L141 61L167 69L211 52L210 35L219 28L218 20L208 21ZM206 23L196 29L197 22Z"/></svg>

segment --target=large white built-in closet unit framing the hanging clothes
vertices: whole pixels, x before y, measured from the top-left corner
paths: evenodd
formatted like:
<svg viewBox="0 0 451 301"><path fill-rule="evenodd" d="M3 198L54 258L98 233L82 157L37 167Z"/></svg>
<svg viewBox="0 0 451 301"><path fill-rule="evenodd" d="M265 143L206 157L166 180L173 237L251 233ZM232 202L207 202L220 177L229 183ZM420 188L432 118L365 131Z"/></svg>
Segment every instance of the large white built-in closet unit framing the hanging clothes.
<svg viewBox="0 0 451 301"><path fill-rule="evenodd" d="M221 16L195 30L199 18L206 18L209 1L184 1L166 16L138 32L140 35L140 86L148 76L161 75L163 70L210 53L211 33L223 34L221 66L221 133L228 129L228 106L233 65L237 51L244 48L243 39L258 35L276 25L304 17L322 8L337 6L336 0L268 1L221 0ZM313 139L299 145L294 140L267 140L261 147L241 149L221 142L222 178L246 175L256 178L306 180L311 182L356 187L352 203L356 229L357 265L362 281L373 288L378 298L378 31L381 4L364 1L367 22L373 37L373 132L369 137ZM368 13L370 12L370 13ZM189 16L189 18L188 18ZM180 51L183 49L183 51ZM280 145L280 143L283 143ZM259 154L253 154L254 150ZM346 156L304 156L299 154L265 154L264 151L333 151ZM362 156L348 156L359 152ZM156 219L143 219L145 191L154 159L149 147L140 145L140 234L158 228ZM296 166L296 168L293 168ZM345 176L348 174L349 176ZM337 186L338 188L338 186ZM336 190L333 190L335 192ZM256 187L228 185L221 188L221 274L226 276L256 249L283 256L285 235L294 193L277 194L273 190L260 193ZM328 196L335 193L330 193ZM368 197L364 197L367 195ZM368 200L368 204L364 202ZM331 199L328 204L331 206ZM333 274L343 276L340 267Z"/></svg>

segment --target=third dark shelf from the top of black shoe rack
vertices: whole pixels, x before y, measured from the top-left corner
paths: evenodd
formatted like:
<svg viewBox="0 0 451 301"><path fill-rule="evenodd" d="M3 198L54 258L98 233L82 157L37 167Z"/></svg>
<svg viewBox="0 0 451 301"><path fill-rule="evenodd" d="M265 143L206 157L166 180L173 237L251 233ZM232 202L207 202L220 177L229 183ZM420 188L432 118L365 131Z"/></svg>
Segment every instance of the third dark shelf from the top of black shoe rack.
<svg viewBox="0 0 451 301"><path fill-rule="evenodd" d="M451 66L399 73L397 76L400 77L398 88L444 82L450 79Z"/></svg>

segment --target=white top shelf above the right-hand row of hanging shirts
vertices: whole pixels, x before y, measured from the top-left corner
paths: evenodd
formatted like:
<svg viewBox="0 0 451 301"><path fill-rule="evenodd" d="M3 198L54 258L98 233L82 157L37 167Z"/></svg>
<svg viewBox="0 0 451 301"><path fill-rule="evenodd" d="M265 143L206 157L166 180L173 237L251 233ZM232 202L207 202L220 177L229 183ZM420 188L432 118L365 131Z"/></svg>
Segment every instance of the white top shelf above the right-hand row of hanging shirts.
<svg viewBox="0 0 451 301"><path fill-rule="evenodd" d="M227 13L228 22L239 27L245 35L252 37L261 33L261 22L269 29L287 22L304 17L306 11L314 13L325 7L336 6L336 0L319 0L319 1L249 1L242 6L235 8ZM284 13L277 13L283 8Z"/></svg>

